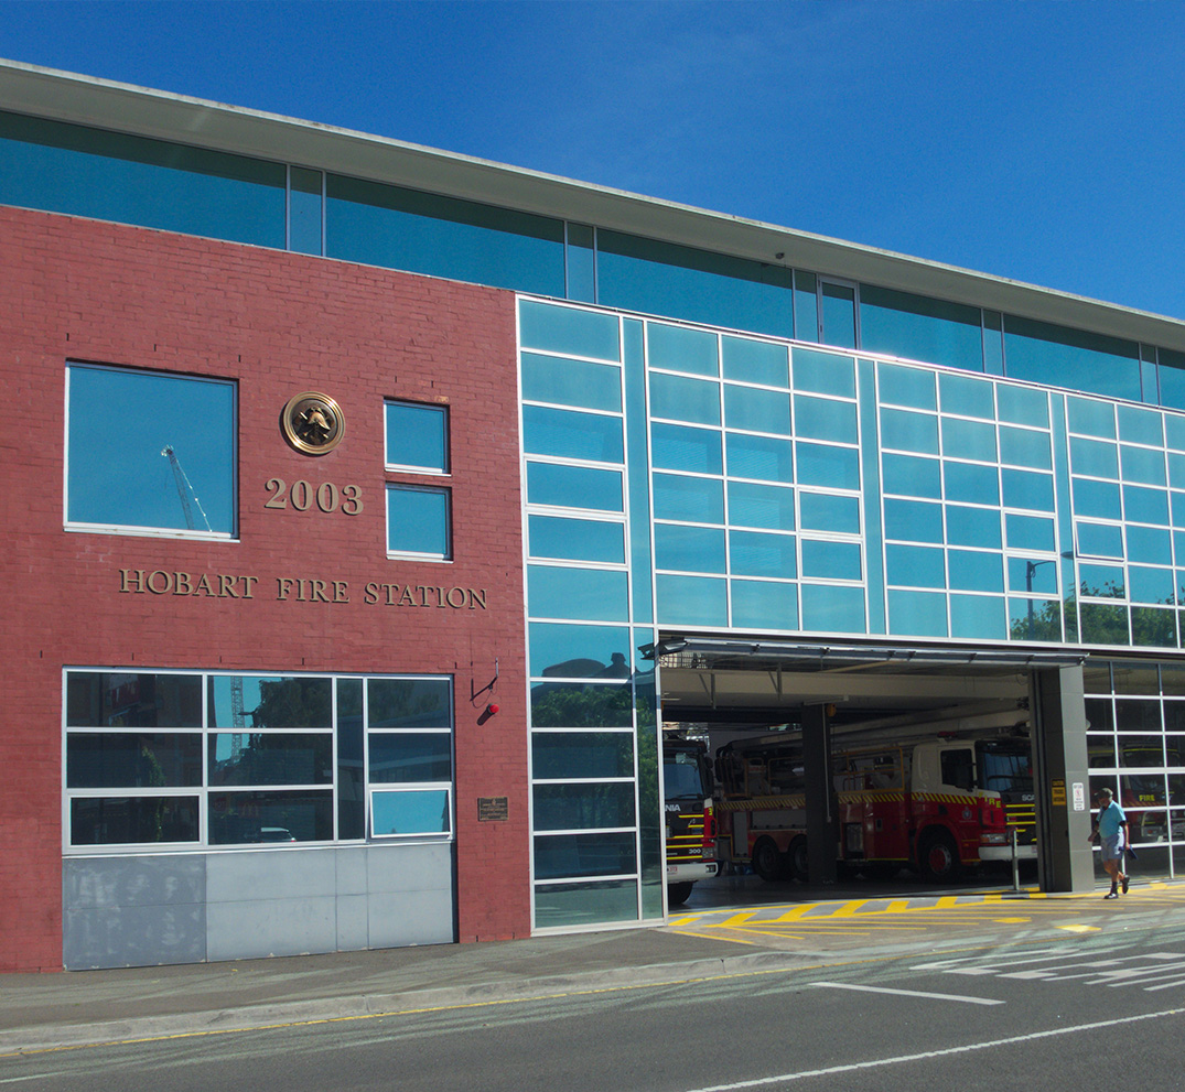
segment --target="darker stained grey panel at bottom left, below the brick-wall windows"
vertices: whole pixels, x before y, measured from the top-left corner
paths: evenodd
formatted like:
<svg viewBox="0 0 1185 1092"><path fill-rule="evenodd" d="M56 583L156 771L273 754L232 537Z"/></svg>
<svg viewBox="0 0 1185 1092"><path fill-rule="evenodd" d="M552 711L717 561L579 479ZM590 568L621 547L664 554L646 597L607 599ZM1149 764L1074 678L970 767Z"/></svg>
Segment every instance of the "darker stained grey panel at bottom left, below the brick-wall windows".
<svg viewBox="0 0 1185 1092"><path fill-rule="evenodd" d="M206 958L201 855L76 857L62 874L68 970Z"/></svg>

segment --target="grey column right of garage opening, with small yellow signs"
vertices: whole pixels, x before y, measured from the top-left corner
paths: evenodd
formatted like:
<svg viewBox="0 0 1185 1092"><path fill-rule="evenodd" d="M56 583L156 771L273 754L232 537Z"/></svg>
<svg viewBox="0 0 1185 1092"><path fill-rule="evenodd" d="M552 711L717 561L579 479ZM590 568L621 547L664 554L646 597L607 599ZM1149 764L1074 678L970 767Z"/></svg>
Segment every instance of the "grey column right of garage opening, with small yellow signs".
<svg viewBox="0 0 1185 1092"><path fill-rule="evenodd" d="M1049 892L1093 891L1082 667L1035 670L1031 680L1040 885Z"/></svg>

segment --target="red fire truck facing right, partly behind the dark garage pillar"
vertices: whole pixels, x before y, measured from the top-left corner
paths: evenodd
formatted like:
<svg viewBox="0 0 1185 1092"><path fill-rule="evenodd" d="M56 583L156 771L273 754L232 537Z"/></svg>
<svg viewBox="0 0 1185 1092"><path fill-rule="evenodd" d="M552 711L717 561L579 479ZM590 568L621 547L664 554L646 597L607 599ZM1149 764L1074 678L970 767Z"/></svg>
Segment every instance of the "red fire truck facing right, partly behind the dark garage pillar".
<svg viewBox="0 0 1185 1092"><path fill-rule="evenodd" d="M999 791L979 778L976 741L930 736L832 751L837 859L865 875L911 867L948 880L1010 852ZM722 747L718 855L766 880L807 878L806 777L794 737Z"/></svg>

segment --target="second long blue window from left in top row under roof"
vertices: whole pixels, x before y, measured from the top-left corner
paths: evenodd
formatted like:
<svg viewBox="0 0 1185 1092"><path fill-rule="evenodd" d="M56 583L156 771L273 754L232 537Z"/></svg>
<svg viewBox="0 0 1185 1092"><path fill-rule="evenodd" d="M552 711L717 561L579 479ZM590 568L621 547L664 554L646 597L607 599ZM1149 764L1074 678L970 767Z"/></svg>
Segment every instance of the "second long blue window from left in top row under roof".
<svg viewBox="0 0 1185 1092"><path fill-rule="evenodd" d="M331 258L564 295L562 220L337 174L326 193Z"/></svg>

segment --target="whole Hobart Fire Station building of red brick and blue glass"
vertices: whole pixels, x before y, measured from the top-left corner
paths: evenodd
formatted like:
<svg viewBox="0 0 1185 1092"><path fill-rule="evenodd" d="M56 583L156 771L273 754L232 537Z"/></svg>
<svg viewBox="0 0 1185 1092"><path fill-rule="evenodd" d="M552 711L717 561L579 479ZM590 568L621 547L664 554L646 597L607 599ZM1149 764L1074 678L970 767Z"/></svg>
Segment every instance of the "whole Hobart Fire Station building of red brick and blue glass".
<svg viewBox="0 0 1185 1092"><path fill-rule="evenodd" d="M0 970L661 923L664 722L1185 867L1181 322L7 62L0 244Z"/></svg>

